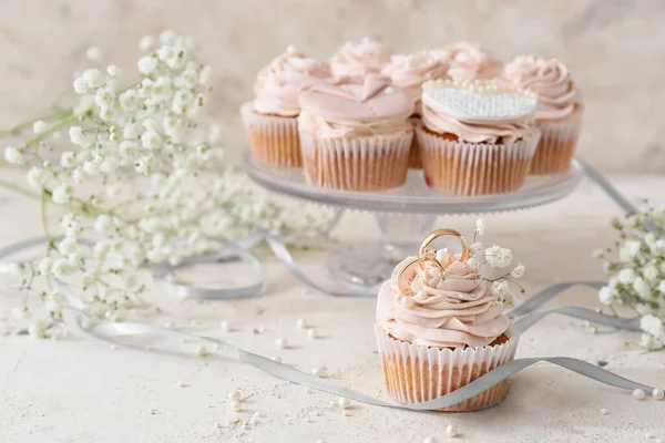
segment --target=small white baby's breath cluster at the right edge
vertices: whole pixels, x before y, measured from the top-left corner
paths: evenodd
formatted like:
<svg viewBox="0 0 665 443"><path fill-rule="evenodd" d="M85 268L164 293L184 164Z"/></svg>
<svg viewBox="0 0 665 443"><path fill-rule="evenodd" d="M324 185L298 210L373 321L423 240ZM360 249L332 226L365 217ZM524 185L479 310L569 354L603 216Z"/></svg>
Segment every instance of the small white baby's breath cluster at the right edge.
<svg viewBox="0 0 665 443"><path fill-rule="evenodd" d="M665 209L645 202L642 213L612 219L618 234L614 245L593 251L610 276L598 300L611 315L617 308L640 318L640 344L649 351L665 349Z"/></svg>

